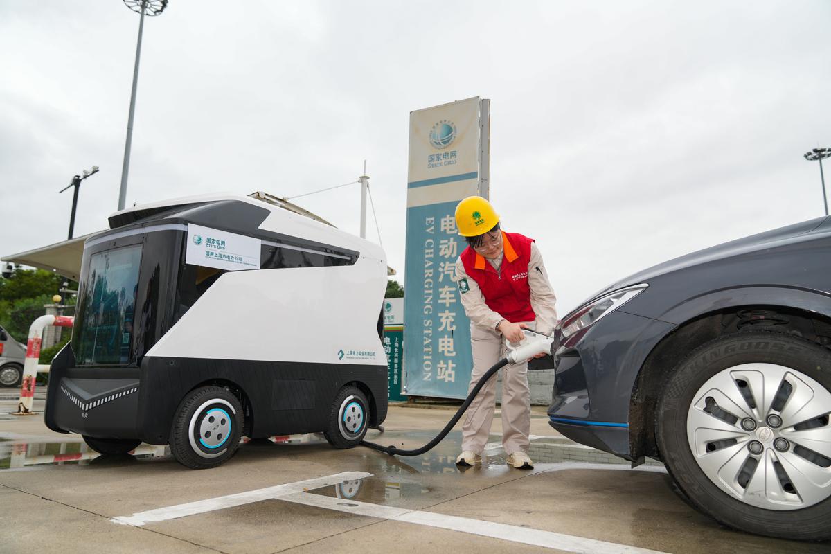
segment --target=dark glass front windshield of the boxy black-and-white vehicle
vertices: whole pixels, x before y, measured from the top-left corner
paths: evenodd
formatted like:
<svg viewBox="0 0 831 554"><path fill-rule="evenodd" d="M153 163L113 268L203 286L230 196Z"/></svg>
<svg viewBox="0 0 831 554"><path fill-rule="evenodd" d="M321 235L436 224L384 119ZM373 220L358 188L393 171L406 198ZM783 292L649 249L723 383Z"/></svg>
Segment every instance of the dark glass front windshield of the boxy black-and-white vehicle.
<svg viewBox="0 0 831 554"><path fill-rule="evenodd" d="M78 365L124 365L130 361L141 245L90 257L72 351Z"/></svg>

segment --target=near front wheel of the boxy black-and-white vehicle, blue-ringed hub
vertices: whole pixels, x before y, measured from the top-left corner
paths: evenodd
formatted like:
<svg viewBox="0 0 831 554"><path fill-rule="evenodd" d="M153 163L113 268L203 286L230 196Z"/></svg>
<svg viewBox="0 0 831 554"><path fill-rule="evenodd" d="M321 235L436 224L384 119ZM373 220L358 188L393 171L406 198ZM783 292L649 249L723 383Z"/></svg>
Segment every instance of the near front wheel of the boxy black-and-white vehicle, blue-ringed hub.
<svg viewBox="0 0 831 554"><path fill-rule="evenodd" d="M215 468L237 452L243 421L243 407L229 390L199 387L176 410L170 452L188 468Z"/></svg>

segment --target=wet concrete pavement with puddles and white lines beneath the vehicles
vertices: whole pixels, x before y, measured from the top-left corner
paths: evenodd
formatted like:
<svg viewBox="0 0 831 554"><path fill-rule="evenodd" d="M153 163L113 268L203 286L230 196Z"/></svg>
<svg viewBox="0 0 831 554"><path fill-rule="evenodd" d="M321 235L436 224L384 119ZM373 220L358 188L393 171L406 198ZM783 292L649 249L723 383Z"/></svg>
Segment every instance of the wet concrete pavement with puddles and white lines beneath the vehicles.
<svg viewBox="0 0 831 554"><path fill-rule="evenodd" d="M530 471L505 464L499 434L481 467L460 471L458 429L413 458L309 434L242 444L194 471L159 446L99 456L42 417L5 415L14 405L0 401L0 552L831 552L722 527L660 463L632 470L573 444L542 411ZM392 407L386 433L367 439L416 447L451 414Z"/></svg>

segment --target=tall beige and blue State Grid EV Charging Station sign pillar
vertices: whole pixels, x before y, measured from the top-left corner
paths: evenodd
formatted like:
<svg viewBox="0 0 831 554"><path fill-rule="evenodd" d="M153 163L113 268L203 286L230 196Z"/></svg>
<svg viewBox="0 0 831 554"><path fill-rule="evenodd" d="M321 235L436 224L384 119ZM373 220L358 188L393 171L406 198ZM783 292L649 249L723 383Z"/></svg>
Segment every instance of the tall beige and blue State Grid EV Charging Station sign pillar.
<svg viewBox="0 0 831 554"><path fill-rule="evenodd" d="M464 398L473 357L455 283L465 249L456 204L488 198L490 101L479 97L410 114L404 295L407 395Z"/></svg>

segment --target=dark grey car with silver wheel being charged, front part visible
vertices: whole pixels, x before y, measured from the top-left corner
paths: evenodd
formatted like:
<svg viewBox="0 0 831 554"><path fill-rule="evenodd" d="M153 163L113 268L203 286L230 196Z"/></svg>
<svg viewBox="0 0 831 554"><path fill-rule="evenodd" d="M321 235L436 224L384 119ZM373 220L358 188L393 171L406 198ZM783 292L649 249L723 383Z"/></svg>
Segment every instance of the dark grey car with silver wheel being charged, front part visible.
<svg viewBox="0 0 831 554"><path fill-rule="evenodd" d="M556 331L550 424L773 537L831 538L831 218L676 258Z"/></svg>

